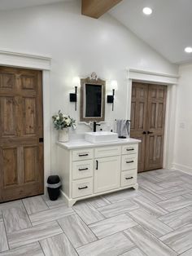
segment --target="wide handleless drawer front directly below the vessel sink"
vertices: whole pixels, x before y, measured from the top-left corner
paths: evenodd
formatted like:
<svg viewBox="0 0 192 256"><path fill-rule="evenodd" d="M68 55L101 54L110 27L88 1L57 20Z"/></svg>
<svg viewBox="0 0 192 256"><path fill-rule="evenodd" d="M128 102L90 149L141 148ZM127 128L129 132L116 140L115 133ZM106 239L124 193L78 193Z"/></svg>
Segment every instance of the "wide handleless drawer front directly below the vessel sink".
<svg viewBox="0 0 192 256"><path fill-rule="evenodd" d="M94 157L113 157L120 155L120 146L101 147L94 149Z"/></svg>

